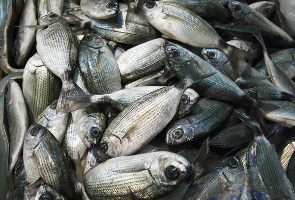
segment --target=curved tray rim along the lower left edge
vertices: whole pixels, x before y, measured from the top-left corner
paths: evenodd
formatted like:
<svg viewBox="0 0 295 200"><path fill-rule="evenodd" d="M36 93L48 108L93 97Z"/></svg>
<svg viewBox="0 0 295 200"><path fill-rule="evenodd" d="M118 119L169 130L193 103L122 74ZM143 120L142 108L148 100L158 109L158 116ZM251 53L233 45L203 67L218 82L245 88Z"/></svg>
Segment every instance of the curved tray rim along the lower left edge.
<svg viewBox="0 0 295 200"><path fill-rule="evenodd" d="M0 81L0 200L4 200L8 175L9 134L5 109L5 87L9 79L22 79L23 72L6 75Z"/></svg>

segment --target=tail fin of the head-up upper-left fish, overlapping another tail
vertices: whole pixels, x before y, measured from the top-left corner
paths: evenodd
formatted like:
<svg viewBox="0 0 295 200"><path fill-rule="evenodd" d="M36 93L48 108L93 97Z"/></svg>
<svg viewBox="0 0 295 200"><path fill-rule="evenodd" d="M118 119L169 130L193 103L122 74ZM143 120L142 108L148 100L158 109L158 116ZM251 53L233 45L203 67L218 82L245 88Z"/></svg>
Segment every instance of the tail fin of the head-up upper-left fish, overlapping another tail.
<svg viewBox="0 0 295 200"><path fill-rule="evenodd" d="M57 105L57 114L59 111L62 113L69 105L66 102L66 97L75 96L75 95L86 95L86 93L76 84L74 81L70 81L69 84L62 84L58 105Z"/></svg>

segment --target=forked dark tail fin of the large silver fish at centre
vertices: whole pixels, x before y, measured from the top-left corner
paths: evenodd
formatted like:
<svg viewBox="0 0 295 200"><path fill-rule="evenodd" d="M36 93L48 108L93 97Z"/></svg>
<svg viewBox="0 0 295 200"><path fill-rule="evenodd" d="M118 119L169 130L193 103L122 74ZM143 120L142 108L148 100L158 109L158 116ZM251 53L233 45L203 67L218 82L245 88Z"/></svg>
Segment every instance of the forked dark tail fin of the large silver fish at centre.
<svg viewBox="0 0 295 200"><path fill-rule="evenodd" d="M184 83L184 87L187 88L191 85L193 85L196 82L199 82L211 75L215 75L216 73L207 73L207 74L199 74L196 73L196 71L200 71L200 70L196 70L198 69L198 60L195 59L195 57L193 57L189 63L189 66L186 69L186 72L182 78L182 82Z"/></svg>

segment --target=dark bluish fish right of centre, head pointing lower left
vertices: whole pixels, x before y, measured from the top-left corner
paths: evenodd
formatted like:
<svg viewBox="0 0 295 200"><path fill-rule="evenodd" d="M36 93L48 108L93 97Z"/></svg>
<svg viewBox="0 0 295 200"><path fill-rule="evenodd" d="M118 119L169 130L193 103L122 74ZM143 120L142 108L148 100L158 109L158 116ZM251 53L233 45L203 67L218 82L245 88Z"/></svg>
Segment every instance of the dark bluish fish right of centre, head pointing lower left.
<svg viewBox="0 0 295 200"><path fill-rule="evenodd" d="M216 100L200 100L190 116L173 122L166 132L170 146L183 144L207 135L217 128L232 112L230 104Z"/></svg>

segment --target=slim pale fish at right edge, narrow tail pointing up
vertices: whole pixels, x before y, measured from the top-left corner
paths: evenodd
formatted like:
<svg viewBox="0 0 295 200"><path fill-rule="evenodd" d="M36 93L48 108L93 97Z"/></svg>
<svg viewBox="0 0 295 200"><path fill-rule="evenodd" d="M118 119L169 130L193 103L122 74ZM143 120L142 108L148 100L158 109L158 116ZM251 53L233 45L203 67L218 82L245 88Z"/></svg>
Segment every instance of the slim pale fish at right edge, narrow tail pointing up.
<svg viewBox="0 0 295 200"><path fill-rule="evenodd" d="M257 27L257 35L254 35L257 40L260 42L264 59L267 67L267 72L271 77L271 82L280 90L287 92L289 94L295 95L295 82L286 75L284 71L281 70L270 58L269 53L266 49L266 46L264 44L261 32L259 31L259 28Z"/></svg>

